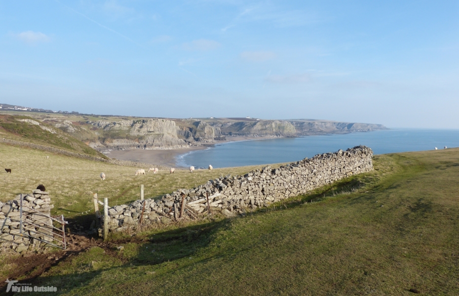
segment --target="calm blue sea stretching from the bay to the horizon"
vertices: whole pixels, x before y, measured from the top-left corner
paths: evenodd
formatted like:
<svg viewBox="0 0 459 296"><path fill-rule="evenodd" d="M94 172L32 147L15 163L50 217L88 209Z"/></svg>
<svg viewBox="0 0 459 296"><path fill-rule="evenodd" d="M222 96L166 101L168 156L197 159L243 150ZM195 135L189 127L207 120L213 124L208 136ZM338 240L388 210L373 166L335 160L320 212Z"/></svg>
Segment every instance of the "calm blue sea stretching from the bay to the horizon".
<svg viewBox="0 0 459 296"><path fill-rule="evenodd" d="M206 150L176 157L181 167L241 167L296 162L316 154L346 150L358 145L370 147L374 154L439 150L459 147L458 129L397 128L348 134L314 135L297 138L272 138L216 144Z"/></svg>

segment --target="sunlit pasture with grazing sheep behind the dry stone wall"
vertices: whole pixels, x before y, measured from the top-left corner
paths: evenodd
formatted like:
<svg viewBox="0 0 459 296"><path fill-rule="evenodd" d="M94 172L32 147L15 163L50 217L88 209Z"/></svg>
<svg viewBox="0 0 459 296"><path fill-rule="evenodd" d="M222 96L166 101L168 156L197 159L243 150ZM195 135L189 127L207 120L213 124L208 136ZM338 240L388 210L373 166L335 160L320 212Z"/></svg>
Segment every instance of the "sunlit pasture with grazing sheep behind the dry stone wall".
<svg viewBox="0 0 459 296"><path fill-rule="evenodd" d="M123 204L140 198L141 184L145 186L146 197L156 197L178 188L191 188L222 174L243 174L262 167L214 169L212 172L206 169L193 173L176 170L172 175L168 171L159 171L158 174L135 176L139 168L63 155L51 155L45 159L49 152L1 143L0 155L0 201L11 200L19 193L32 192L38 184L44 184L55 205L52 213L64 213L66 217L93 209L93 193L100 198L108 197L110 205ZM12 173L6 173L3 168L11 168ZM101 172L107 176L105 181L99 177ZM92 219L92 214L87 216Z"/></svg>

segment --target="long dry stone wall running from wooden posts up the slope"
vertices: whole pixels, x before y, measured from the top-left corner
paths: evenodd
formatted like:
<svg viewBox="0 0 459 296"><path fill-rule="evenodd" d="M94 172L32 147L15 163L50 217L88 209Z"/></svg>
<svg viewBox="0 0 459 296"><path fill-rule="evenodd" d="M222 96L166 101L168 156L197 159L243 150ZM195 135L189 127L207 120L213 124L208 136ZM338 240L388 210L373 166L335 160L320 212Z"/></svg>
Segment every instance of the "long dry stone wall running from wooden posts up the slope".
<svg viewBox="0 0 459 296"><path fill-rule="evenodd" d="M373 170L373 151L356 146L346 151L325 153L311 159L291 163L279 169L267 166L243 176L227 176L210 180L192 189L179 189L159 200L137 200L108 210L111 231L123 231L143 222L168 223L178 219L185 196L184 211L198 217L207 211L207 195L211 210L227 216L268 207L269 204L306 193L342 178Z"/></svg>

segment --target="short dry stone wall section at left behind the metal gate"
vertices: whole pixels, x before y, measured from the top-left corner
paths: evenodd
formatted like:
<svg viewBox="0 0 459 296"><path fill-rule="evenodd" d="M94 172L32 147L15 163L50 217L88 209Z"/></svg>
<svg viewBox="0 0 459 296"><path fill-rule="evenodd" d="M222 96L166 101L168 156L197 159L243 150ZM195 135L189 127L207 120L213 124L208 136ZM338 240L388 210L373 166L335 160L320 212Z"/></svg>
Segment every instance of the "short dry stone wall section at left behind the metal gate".
<svg viewBox="0 0 459 296"><path fill-rule="evenodd" d="M50 202L48 192L38 189L33 193L23 194L23 234L26 236L21 236L19 230L20 195L17 195L12 201L0 202L0 250L13 249L21 253L29 249L30 245L39 247L44 244L29 236L50 242L52 239L45 235L53 235L52 229L47 227L47 225L52 225L49 215L54 205L51 205ZM26 214L32 219L27 218ZM37 228L36 225L42 228Z"/></svg>

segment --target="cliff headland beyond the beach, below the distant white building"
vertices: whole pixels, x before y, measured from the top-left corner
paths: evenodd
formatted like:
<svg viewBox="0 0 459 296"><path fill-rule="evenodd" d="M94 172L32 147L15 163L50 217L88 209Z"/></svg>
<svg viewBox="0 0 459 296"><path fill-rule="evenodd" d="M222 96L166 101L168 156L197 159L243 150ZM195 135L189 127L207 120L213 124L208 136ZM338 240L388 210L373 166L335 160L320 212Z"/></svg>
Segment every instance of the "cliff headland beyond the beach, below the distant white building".
<svg viewBox="0 0 459 296"><path fill-rule="evenodd" d="M279 120L217 122L211 125L219 127L224 135L288 137L296 134L291 123Z"/></svg>

